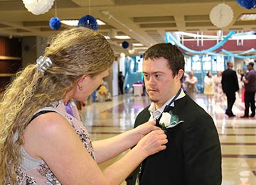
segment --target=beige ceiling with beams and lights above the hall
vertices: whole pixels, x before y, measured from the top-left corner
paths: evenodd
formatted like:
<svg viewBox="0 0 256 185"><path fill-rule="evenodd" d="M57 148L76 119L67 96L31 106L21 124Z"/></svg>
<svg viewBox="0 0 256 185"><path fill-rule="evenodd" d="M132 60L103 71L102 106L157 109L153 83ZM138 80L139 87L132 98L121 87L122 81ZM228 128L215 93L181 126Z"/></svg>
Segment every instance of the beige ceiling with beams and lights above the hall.
<svg viewBox="0 0 256 185"><path fill-rule="evenodd" d="M41 0L42 1L42 0ZM44 0L46 1L46 0ZM210 22L209 13L214 6L225 2L233 9L233 21L223 31L256 30L256 21L239 21L242 13L256 13L256 9L245 9L235 0L55 0L50 11L34 15L21 0L0 0L0 35L11 37L46 37L59 30L52 30L50 18L60 20L79 19L90 14L106 23L99 26L99 32L109 35L110 29L117 35L129 35L132 43L142 43L141 47L122 48L124 40L110 39L116 54L134 49L134 54L144 52L146 47L164 42L164 33L186 31L216 35L220 28ZM56 7L56 8L55 8ZM106 15L107 14L107 15ZM60 30L66 28L62 26Z"/></svg>

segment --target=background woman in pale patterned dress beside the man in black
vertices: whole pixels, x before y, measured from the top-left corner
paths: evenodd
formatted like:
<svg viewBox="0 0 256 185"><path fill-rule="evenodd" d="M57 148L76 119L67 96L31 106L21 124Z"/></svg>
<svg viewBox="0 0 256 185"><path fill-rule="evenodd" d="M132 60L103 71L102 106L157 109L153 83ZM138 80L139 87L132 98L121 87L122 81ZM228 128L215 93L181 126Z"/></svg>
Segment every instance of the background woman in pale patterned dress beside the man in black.
<svg viewBox="0 0 256 185"><path fill-rule="evenodd" d="M222 72L218 71L214 76L214 101L215 103L220 103L222 105L224 101L223 89L221 84Z"/></svg>

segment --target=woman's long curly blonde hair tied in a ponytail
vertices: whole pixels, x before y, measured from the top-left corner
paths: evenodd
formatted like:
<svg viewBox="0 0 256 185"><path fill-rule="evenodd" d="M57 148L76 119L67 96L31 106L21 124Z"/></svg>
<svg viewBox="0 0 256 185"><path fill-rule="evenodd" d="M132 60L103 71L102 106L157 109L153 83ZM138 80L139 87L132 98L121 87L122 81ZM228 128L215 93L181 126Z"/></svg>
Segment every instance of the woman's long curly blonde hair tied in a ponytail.
<svg viewBox="0 0 256 185"><path fill-rule="evenodd" d="M21 163L23 131L35 111L63 99L82 74L91 77L110 68L114 52L105 37L85 27L50 38L45 57L53 64L40 72L28 65L16 74L0 100L0 184L14 184Z"/></svg>

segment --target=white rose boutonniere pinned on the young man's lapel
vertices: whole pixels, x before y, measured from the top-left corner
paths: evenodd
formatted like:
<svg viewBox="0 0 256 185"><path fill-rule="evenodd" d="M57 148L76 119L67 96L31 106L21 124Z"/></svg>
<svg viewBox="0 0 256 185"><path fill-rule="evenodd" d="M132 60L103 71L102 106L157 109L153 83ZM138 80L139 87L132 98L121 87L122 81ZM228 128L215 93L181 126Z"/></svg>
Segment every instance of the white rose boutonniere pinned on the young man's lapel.
<svg viewBox="0 0 256 185"><path fill-rule="evenodd" d="M166 130L167 128L173 128L179 123L184 122L183 120L178 120L178 116L171 113L162 113L161 119L159 120L159 125L161 129Z"/></svg>

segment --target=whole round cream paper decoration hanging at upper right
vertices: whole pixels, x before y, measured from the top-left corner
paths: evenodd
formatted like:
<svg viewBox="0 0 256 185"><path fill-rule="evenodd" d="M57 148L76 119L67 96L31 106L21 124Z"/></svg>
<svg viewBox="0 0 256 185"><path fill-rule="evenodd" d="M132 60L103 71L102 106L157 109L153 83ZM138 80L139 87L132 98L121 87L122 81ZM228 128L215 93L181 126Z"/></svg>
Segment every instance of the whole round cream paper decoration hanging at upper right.
<svg viewBox="0 0 256 185"><path fill-rule="evenodd" d="M218 4L210 11L210 21L218 28L224 28L233 21L233 10L227 4Z"/></svg>

